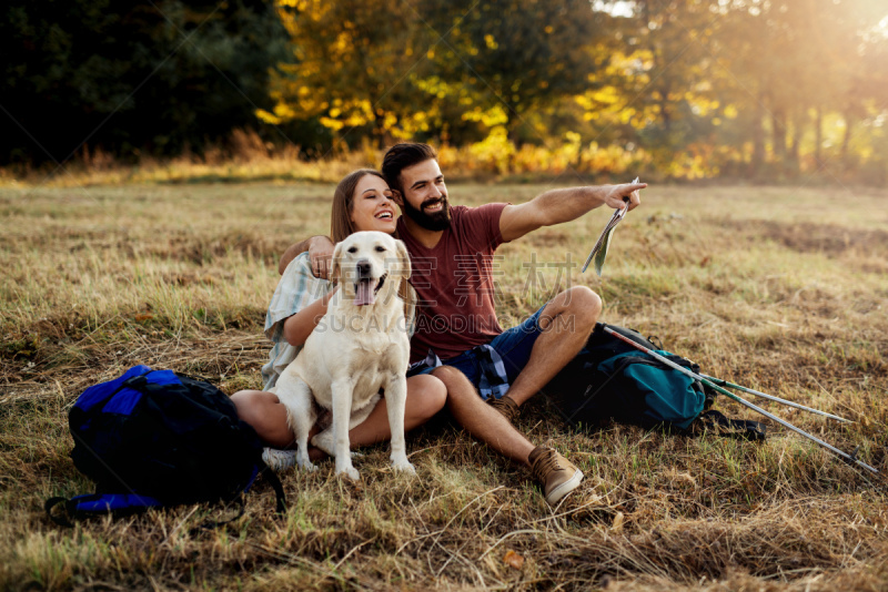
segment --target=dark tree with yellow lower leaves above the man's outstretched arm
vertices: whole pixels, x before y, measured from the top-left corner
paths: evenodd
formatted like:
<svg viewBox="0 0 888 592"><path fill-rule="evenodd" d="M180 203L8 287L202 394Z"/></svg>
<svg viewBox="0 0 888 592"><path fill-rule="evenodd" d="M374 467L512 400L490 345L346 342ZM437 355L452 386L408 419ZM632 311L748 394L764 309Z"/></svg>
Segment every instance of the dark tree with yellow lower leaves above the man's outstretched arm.
<svg viewBox="0 0 888 592"><path fill-rule="evenodd" d="M418 10L441 38L420 75L428 100L455 102L462 119L504 125L517 141L528 113L589 86L609 18L587 0L426 0Z"/></svg>

